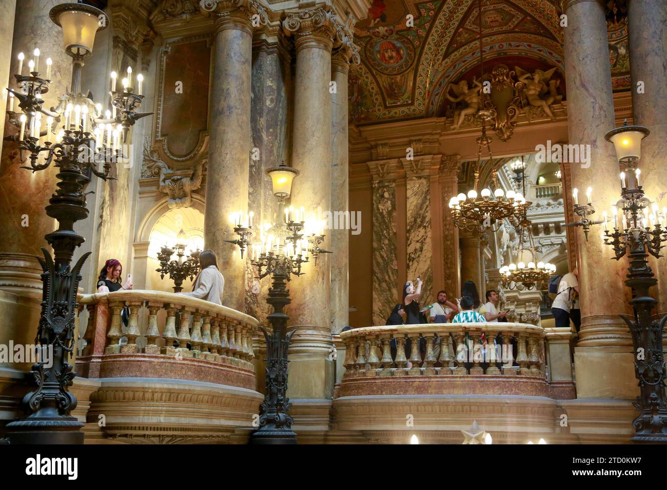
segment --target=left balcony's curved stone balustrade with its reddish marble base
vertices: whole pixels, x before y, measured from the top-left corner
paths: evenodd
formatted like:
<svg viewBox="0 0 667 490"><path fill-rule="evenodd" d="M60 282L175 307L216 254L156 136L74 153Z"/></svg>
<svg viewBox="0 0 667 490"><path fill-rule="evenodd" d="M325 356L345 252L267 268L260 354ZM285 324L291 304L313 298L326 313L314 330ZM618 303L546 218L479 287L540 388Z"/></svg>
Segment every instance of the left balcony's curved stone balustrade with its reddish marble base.
<svg viewBox="0 0 667 490"><path fill-rule="evenodd" d="M94 293L78 301L86 343L76 362L81 377L187 379L255 388L251 361L258 322L253 317L162 291Z"/></svg>

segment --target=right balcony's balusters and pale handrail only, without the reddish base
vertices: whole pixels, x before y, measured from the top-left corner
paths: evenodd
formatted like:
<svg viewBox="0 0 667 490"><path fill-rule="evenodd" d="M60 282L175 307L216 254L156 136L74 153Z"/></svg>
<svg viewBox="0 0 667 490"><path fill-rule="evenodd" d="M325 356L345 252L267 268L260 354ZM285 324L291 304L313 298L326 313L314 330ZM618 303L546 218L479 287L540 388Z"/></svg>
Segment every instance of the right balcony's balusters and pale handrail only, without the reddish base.
<svg viewBox="0 0 667 490"><path fill-rule="evenodd" d="M544 337L542 327L514 322L353 329L340 334L346 345L344 380L436 374L519 375L544 379ZM410 352L406 355L404 349L408 342ZM514 361L518 368L513 366ZM408 362L412 367L407 367ZM438 363L440 367L436 367Z"/></svg>

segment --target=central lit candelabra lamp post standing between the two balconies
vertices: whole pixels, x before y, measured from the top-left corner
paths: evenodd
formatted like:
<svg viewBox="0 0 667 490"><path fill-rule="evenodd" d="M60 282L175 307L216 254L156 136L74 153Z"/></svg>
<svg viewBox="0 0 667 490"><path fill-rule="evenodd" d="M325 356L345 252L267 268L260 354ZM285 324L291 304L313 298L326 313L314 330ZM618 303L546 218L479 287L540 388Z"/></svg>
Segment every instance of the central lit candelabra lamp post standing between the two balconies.
<svg viewBox="0 0 667 490"><path fill-rule="evenodd" d="M234 223L234 232L238 239L226 240L238 245L243 251L249 250L253 267L257 268L257 278L271 276L271 287L266 302L273 307L267 319L270 331L259 327L266 341L266 395L259 407L259 427L250 436L252 444L296 444L296 434L291 430L292 417L287 413L291 403L287 392L287 350L293 331L286 333L289 317L283 312L291 303L287 283L292 275L299 276L301 266L309 262L312 255L315 265L321 253L331 253L320 247L324 241L323 226L311 225L305 220L301 210L287 207L285 200L291 193L293 178L299 174L297 169L287 167L285 163L266 169L273 182L273 195L279 203L279 223L265 224L259 227L261 241L251 244L253 235L252 215L244 219L243 213L230 217ZM312 231L306 235L308 231ZM306 235L304 237L304 235Z"/></svg>

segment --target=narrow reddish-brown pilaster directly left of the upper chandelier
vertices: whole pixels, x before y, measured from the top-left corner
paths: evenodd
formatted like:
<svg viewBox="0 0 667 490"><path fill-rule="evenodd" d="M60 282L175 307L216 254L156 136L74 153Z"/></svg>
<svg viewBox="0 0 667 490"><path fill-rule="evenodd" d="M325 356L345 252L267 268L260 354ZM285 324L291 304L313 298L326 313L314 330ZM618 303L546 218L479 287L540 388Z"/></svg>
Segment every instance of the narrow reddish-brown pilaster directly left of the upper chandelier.
<svg viewBox="0 0 667 490"><path fill-rule="evenodd" d="M448 155L440 163L440 191L442 193L442 265L444 284L449 297L461 294L461 272L459 257L459 231L454 226L449 203L458 193L458 172L461 163L458 155Z"/></svg>

